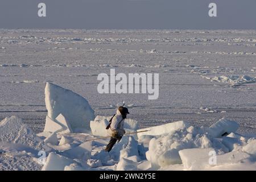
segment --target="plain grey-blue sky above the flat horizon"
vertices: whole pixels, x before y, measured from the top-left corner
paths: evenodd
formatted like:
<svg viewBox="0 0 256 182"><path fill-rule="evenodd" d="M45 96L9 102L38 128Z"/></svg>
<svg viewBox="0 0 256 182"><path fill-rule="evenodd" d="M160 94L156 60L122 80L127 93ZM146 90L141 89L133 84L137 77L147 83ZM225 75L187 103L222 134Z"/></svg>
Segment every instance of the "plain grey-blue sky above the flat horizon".
<svg viewBox="0 0 256 182"><path fill-rule="evenodd" d="M256 29L256 0L0 0L0 28Z"/></svg>

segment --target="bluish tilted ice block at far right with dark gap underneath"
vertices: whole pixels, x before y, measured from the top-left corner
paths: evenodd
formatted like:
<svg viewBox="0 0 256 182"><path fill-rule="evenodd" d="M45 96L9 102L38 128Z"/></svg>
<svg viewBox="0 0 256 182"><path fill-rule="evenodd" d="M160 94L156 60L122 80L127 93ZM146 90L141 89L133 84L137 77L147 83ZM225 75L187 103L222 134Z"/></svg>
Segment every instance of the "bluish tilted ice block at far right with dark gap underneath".
<svg viewBox="0 0 256 182"><path fill-rule="evenodd" d="M212 137L223 137L237 131L238 127L237 122L222 118L210 126L209 134L212 135Z"/></svg>

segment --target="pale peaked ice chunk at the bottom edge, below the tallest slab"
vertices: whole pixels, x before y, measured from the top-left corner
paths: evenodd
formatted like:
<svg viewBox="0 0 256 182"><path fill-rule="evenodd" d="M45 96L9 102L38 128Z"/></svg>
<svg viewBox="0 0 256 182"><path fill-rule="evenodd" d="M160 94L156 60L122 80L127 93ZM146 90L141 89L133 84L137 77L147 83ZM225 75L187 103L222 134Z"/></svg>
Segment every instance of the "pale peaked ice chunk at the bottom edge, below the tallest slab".
<svg viewBox="0 0 256 182"><path fill-rule="evenodd" d="M75 163L74 160L51 152L46 159L42 171L63 171L65 166L69 166L73 163Z"/></svg>

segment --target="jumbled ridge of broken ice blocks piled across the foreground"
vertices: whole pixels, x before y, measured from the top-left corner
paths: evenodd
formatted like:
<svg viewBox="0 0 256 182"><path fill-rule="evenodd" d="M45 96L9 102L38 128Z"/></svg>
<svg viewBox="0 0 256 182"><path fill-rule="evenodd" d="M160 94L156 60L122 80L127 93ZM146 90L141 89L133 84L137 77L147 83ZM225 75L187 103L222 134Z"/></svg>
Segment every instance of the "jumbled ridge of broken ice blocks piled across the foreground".
<svg viewBox="0 0 256 182"><path fill-rule="evenodd" d="M72 99L71 99L72 98ZM238 123L222 118L210 127L177 121L139 129L127 119L126 135L113 147L103 149L111 117L96 116L88 101L71 90L46 85L48 115L43 133L35 134L17 117L0 122L0 153L26 156L42 170L171 170L255 169L256 139L237 134ZM78 129L79 128L79 129ZM81 130L82 128L82 130ZM90 141L87 141L90 140ZM214 156L216 158L214 158Z"/></svg>

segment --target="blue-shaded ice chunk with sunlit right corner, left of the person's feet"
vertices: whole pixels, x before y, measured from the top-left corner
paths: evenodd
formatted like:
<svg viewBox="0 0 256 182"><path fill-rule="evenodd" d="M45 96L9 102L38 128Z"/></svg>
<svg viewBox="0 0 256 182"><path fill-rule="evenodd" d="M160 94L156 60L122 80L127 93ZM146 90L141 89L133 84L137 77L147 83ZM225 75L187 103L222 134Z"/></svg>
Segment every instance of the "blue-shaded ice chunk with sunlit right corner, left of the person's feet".
<svg viewBox="0 0 256 182"><path fill-rule="evenodd" d="M77 147L64 151L62 154L71 159L87 160L91 156L91 151L92 151L92 143L85 142L80 144Z"/></svg>

